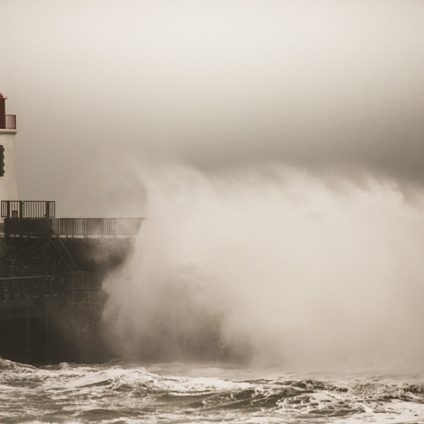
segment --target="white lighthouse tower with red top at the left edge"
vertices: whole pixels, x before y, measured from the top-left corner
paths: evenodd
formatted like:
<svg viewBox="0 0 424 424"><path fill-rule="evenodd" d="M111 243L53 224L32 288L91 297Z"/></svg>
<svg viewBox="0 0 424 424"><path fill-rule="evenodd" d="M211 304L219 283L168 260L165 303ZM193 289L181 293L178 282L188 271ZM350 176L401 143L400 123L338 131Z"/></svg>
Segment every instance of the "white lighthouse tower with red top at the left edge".
<svg viewBox="0 0 424 424"><path fill-rule="evenodd" d="M16 115L6 114L6 99L7 97L0 93L0 200L17 200Z"/></svg>

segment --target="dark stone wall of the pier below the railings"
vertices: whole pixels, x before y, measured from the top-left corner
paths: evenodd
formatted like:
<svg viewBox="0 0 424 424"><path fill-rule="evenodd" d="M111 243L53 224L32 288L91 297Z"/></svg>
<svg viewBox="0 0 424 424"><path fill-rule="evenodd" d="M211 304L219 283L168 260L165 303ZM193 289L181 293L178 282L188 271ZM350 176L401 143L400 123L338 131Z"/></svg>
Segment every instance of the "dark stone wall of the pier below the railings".
<svg viewBox="0 0 424 424"><path fill-rule="evenodd" d="M101 281L124 264L132 248L130 239L60 239L77 268L69 269L54 242L0 239L0 278L86 271L97 273ZM94 291L43 290L36 296L0 299L0 356L32 364L106 360L111 353L102 340L104 302L101 284Z"/></svg>

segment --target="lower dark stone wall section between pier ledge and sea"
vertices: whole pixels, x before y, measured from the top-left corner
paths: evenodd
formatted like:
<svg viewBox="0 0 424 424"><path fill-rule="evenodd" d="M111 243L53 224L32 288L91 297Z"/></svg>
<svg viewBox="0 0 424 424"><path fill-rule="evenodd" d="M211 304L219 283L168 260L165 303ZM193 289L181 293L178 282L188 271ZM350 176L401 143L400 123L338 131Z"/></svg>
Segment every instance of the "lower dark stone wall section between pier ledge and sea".
<svg viewBox="0 0 424 424"><path fill-rule="evenodd" d="M110 357L101 330L101 305L45 302L0 319L1 357L35 365L102 362Z"/></svg>

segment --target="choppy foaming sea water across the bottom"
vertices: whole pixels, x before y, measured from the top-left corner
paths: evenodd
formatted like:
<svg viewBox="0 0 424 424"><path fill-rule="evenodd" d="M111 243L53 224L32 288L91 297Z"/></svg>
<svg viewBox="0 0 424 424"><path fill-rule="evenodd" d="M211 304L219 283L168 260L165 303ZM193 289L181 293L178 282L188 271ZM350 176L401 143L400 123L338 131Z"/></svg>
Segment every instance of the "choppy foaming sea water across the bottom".
<svg viewBox="0 0 424 424"><path fill-rule="evenodd" d="M1 423L424 423L417 376L0 359Z"/></svg>

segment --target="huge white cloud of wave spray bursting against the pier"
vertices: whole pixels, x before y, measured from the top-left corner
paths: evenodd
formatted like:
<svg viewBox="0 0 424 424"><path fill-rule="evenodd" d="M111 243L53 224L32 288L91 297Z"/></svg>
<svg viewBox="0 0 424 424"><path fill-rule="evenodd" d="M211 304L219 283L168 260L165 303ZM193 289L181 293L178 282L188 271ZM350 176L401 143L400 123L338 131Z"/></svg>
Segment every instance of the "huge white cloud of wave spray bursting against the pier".
<svg viewBox="0 0 424 424"><path fill-rule="evenodd" d="M105 283L117 352L423 370L424 218L396 183L175 166L142 181L148 218Z"/></svg>

